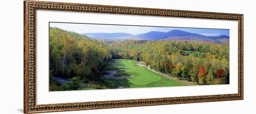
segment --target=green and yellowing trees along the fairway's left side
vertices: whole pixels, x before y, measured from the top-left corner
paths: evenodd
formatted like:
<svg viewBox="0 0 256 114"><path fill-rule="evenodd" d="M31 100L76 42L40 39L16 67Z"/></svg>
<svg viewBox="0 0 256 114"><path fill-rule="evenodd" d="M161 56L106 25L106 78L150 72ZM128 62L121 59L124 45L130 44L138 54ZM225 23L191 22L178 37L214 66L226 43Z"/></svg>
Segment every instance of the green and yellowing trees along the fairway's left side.
<svg viewBox="0 0 256 114"><path fill-rule="evenodd" d="M51 90L59 89L60 85L52 76L73 78L82 83L98 81L102 68L112 59L111 47L107 44L74 32L50 27L49 40Z"/></svg>

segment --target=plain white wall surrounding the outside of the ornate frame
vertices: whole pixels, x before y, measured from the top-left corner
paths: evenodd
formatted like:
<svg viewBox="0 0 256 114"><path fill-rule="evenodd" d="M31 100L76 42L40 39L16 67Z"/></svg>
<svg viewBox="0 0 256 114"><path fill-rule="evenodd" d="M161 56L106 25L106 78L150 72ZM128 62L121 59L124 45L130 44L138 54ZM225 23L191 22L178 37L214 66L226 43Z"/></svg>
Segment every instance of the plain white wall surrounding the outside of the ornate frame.
<svg viewBox="0 0 256 114"><path fill-rule="evenodd" d="M50 1L50 0L47 0ZM255 112L253 103L256 80L255 18L253 1L237 0L51 0L86 4L115 5L128 7L151 7L223 13L244 14L244 100L206 102L150 107L112 108L87 111L71 111L47 114L222 114ZM0 37L0 112L5 114L23 113L23 0L1 2ZM195 111L196 110L196 111Z"/></svg>

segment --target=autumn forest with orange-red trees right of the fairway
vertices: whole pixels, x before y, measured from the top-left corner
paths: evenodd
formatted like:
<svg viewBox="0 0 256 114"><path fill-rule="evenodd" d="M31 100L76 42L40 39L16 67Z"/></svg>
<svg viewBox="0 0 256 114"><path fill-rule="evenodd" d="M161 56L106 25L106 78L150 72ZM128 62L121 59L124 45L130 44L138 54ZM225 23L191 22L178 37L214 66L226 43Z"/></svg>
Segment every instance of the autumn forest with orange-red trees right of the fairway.
<svg viewBox="0 0 256 114"><path fill-rule="evenodd" d="M143 61L161 73L200 85L229 84L229 45L163 40L105 42L110 44L113 58Z"/></svg>

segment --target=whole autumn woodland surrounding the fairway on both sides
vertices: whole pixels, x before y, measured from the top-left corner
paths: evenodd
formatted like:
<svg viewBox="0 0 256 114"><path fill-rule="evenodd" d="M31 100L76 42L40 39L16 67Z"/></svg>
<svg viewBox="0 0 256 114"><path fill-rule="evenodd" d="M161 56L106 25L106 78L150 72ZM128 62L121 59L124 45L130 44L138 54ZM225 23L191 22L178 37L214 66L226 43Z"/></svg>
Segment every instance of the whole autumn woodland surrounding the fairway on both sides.
<svg viewBox="0 0 256 114"><path fill-rule="evenodd" d="M229 45L94 40L56 27L50 27L49 40L51 91L77 90L81 87L77 84L92 82L108 88L101 82L100 74L112 58L143 61L156 71L200 85L229 84ZM61 85L53 76L69 78L71 82Z"/></svg>

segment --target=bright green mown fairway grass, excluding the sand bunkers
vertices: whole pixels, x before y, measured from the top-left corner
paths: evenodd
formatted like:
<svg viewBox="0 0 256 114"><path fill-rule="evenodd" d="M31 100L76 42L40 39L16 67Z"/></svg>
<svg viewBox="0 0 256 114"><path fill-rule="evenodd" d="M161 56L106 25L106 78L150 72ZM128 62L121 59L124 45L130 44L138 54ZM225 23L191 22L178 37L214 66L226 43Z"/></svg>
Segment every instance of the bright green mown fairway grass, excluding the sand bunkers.
<svg viewBox="0 0 256 114"><path fill-rule="evenodd" d="M188 86L192 84L178 82L176 80L171 80L162 76L161 74L155 73L148 70L146 67L138 67L136 65L138 62L135 60L111 60L108 66L105 68L107 70L116 69L126 69L121 71L121 73L115 74L115 76L122 76L123 74L130 74L133 77L127 79L105 79L102 78L107 83L115 84L117 86L122 86L125 88L135 88L135 87L171 87L171 86ZM120 74L120 75L119 75Z"/></svg>

